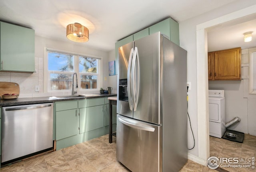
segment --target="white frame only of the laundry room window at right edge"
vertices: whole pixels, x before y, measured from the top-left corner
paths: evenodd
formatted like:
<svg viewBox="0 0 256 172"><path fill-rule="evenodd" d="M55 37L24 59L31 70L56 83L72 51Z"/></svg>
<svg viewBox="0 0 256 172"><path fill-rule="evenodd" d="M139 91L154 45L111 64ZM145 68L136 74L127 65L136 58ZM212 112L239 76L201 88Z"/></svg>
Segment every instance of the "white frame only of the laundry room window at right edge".
<svg viewBox="0 0 256 172"><path fill-rule="evenodd" d="M253 52L256 52L256 47L248 49L248 57L249 57L249 94L256 94L256 89L253 89L253 82L254 82L253 81L253 57L252 57ZM256 84L256 82L255 82L255 84Z"/></svg>

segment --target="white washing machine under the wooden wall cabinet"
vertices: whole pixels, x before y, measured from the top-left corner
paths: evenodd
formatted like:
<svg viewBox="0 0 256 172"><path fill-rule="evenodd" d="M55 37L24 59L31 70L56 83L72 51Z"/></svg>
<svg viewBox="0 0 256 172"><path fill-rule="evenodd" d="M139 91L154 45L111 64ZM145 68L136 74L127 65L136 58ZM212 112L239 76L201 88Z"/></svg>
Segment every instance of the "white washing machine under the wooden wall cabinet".
<svg viewBox="0 0 256 172"><path fill-rule="evenodd" d="M224 90L209 90L210 136L221 138L225 133L226 111Z"/></svg>

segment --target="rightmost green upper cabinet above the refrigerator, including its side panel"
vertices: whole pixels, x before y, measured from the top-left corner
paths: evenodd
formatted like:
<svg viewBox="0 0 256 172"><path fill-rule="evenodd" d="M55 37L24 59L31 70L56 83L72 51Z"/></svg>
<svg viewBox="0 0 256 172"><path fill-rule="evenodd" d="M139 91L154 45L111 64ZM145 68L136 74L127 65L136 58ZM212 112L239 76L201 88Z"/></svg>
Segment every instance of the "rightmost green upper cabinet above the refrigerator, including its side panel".
<svg viewBox="0 0 256 172"><path fill-rule="evenodd" d="M161 32L167 36L169 40L180 45L179 24L172 20L172 18L167 18L166 20L149 27L149 34L154 34L156 32Z"/></svg>

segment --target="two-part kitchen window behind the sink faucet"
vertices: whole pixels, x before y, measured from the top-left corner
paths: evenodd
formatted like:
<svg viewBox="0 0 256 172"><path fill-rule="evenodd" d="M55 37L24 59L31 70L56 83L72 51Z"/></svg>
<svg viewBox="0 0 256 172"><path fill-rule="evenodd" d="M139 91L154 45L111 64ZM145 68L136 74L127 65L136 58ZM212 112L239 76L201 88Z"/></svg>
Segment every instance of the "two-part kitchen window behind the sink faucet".
<svg viewBox="0 0 256 172"><path fill-rule="evenodd" d="M49 49L46 49L46 54L48 92L71 91L75 72L80 90L99 90L100 58Z"/></svg>

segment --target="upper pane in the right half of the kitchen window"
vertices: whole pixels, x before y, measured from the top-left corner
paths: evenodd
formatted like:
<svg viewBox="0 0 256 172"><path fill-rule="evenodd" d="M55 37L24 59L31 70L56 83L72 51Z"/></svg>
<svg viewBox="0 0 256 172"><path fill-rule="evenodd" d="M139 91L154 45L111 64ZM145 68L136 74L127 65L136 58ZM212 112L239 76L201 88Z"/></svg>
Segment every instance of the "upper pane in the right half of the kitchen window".
<svg viewBox="0 0 256 172"><path fill-rule="evenodd" d="M90 57L79 57L79 72L98 73L98 59Z"/></svg>

